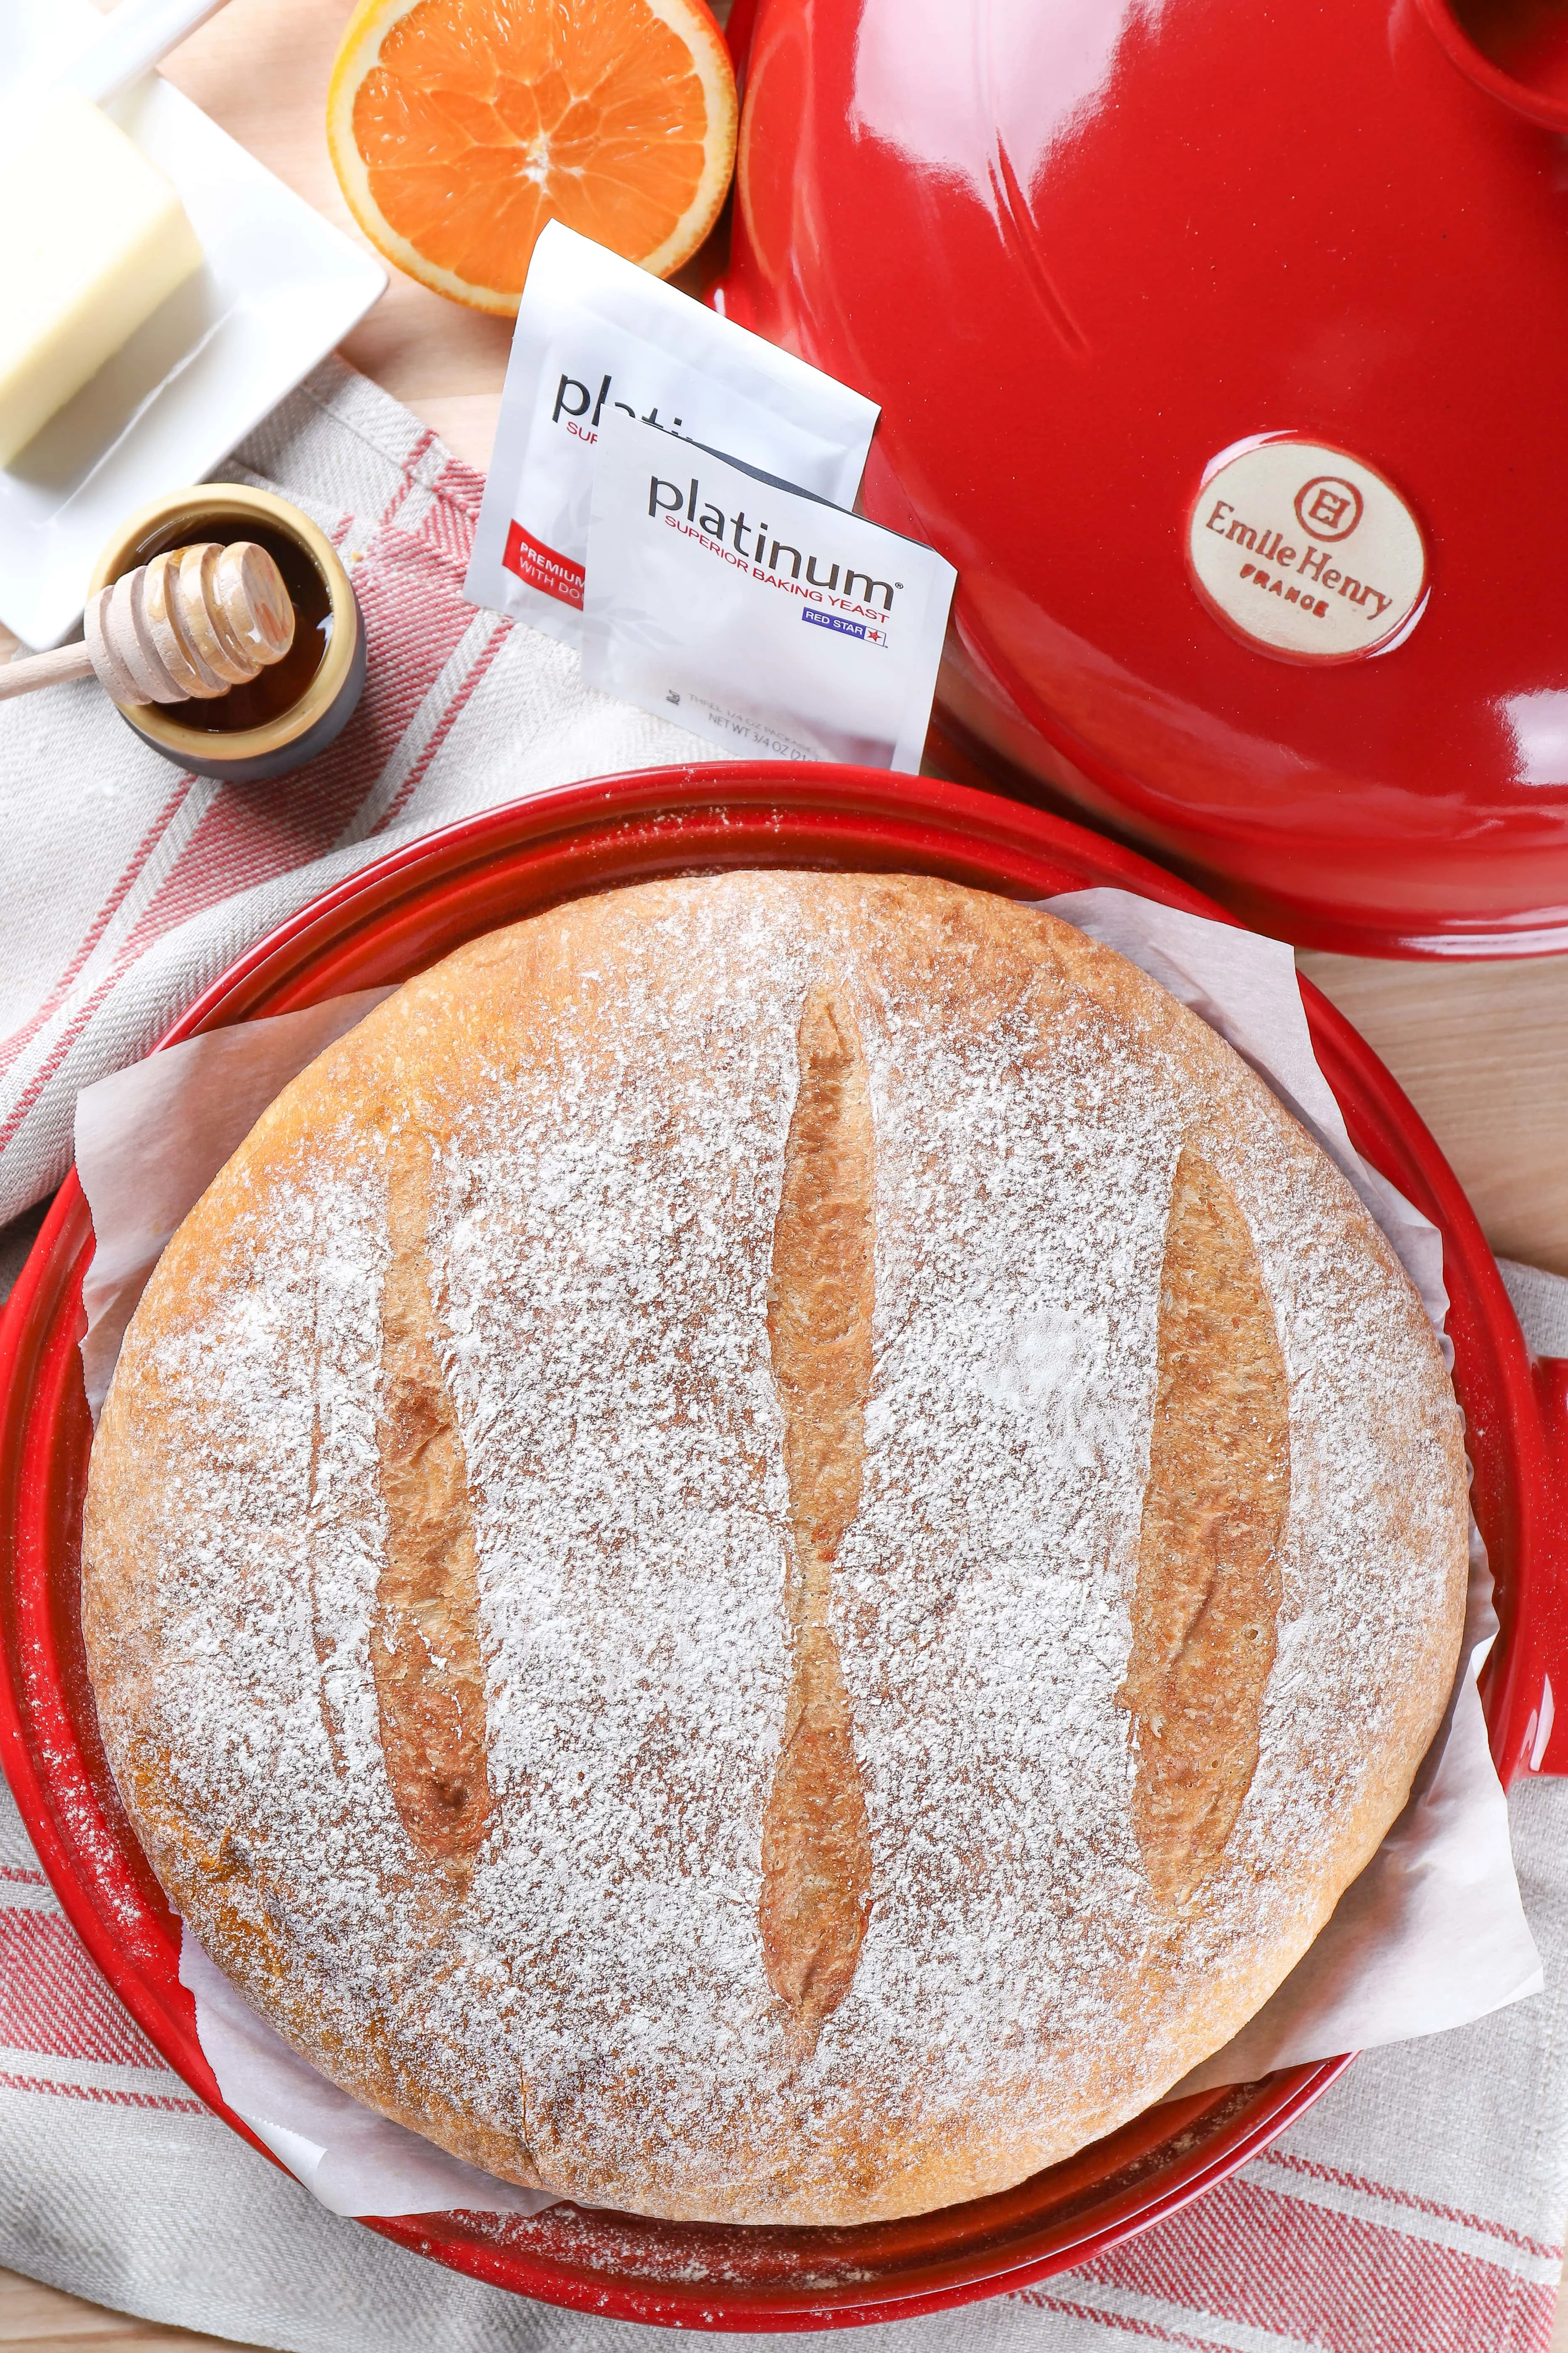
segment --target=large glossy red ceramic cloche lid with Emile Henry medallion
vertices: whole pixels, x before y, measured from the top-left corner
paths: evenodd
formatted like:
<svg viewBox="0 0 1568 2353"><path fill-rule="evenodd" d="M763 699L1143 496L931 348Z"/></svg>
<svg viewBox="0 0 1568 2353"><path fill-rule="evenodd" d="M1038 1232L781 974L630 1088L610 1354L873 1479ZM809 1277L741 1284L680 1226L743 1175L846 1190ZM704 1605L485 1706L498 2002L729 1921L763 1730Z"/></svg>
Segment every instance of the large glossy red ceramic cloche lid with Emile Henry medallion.
<svg viewBox="0 0 1568 2353"><path fill-rule="evenodd" d="M940 708L1309 946L1568 948L1563 0L757 0L748 327Z"/></svg>

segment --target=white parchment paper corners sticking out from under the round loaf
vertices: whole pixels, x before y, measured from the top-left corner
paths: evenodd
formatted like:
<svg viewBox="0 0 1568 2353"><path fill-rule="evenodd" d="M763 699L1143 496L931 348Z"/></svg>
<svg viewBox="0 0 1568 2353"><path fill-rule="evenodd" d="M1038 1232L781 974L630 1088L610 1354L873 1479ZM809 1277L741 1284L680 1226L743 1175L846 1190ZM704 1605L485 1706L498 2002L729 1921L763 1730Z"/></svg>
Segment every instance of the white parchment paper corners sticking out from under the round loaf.
<svg viewBox="0 0 1568 2353"><path fill-rule="evenodd" d="M1441 1235L1356 1155L1312 1054L1291 948L1119 889L1041 904L1140 965L1237 1047L1345 1172L1441 1332ZM174 1228L273 1096L388 993L371 988L214 1031L82 1092L75 1165L96 1238L82 1285L82 1365L94 1414ZM1540 1993L1476 1697L1495 1633L1486 1548L1472 1522L1460 1671L1410 1802L1272 2000L1171 2097L1439 2033ZM327 2082L247 2007L188 1929L181 1981L195 1995L197 2035L223 2099L334 2214L531 2214L552 2205L545 2193L475 2172Z"/></svg>

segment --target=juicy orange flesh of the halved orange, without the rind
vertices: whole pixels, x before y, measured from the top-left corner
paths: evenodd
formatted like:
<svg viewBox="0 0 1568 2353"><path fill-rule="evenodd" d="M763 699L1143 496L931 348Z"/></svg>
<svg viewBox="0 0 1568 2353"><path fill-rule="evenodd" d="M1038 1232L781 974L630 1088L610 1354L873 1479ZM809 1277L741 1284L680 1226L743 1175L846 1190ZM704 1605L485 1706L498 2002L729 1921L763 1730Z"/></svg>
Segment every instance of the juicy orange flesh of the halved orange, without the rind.
<svg viewBox="0 0 1568 2353"><path fill-rule="evenodd" d="M355 94L386 221L437 268L520 294L548 219L651 254L703 176L703 85L644 5L418 0Z"/></svg>

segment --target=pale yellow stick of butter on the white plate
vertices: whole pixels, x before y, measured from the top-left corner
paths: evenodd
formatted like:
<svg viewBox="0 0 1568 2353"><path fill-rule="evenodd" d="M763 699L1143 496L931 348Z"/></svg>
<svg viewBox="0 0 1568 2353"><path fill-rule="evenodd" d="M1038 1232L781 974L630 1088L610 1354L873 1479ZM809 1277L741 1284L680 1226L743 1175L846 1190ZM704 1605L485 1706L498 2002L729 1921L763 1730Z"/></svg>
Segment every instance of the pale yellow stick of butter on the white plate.
<svg viewBox="0 0 1568 2353"><path fill-rule="evenodd" d="M0 466L202 266L186 209L108 115L52 99L0 141Z"/></svg>

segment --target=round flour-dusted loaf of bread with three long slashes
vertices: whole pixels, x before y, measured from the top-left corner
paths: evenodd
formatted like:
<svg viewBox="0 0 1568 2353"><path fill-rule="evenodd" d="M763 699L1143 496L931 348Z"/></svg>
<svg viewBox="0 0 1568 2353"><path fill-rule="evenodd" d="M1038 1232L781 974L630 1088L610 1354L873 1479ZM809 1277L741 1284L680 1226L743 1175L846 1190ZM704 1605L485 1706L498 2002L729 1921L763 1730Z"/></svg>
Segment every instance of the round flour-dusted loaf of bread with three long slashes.
<svg viewBox="0 0 1568 2353"><path fill-rule="evenodd" d="M858 2224L1222 2045L1441 1720L1460 1414L1159 986L898 875L581 899L284 1089L169 1242L82 1621L158 1878L510 2181Z"/></svg>

